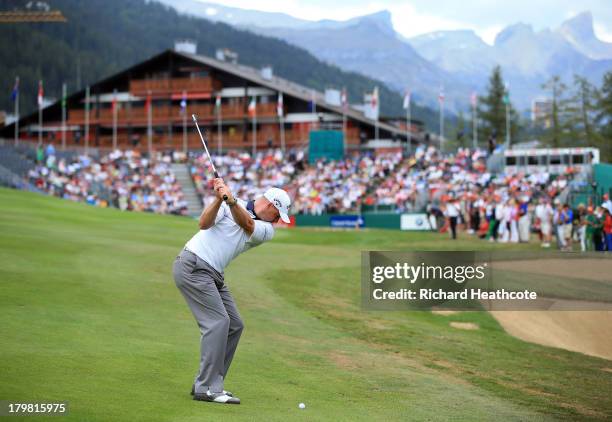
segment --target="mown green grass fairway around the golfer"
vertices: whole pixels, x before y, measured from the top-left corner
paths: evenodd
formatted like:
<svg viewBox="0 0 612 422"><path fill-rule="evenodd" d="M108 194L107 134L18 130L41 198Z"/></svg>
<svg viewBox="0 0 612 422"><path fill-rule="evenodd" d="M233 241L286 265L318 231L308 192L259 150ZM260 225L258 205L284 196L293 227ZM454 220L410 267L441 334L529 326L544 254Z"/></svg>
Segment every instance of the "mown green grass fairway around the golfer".
<svg viewBox="0 0 612 422"><path fill-rule="evenodd" d="M612 417L608 360L515 339L486 312L359 307L362 250L537 245L385 230L277 230L234 261L245 330L226 388L242 404L195 402L199 330L171 271L195 230L0 189L0 400L68 401L49 420L75 421Z"/></svg>

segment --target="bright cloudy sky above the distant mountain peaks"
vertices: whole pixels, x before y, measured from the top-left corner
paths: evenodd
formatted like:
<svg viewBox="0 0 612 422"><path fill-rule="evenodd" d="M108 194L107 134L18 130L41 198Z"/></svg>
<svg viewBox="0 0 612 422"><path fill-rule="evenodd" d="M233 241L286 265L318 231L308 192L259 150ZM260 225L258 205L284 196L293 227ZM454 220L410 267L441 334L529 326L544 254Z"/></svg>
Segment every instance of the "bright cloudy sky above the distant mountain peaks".
<svg viewBox="0 0 612 422"><path fill-rule="evenodd" d="M205 0L201 0L205 1ZM612 42L612 0L208 0L224 6L282 12L306 20L347 20L389 10L397 32L412 37L433 31L472 29L485 42L508 25L522 22L538 31L556 28L591 11L595 34Z"/></svg>

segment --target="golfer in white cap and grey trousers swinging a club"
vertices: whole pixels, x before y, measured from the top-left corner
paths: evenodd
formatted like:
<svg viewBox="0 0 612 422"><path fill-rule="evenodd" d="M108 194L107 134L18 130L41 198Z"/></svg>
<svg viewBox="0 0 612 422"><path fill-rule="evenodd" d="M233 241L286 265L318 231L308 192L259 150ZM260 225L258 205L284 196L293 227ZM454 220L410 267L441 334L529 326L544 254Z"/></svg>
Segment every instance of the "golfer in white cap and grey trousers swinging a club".
<svg viewBox="0 0 612 422"><path fill-rule="evenodd" d="M215 201L202 211L200 231L176 257L173 275L202 334L193 399L239 404L240 399L223 389L243 328L223 270L242 252L272 239L272 223L279 218L289 222L291 199L284 190L270 188L245 202L234 198L220 178L214 188Z"/></svg>

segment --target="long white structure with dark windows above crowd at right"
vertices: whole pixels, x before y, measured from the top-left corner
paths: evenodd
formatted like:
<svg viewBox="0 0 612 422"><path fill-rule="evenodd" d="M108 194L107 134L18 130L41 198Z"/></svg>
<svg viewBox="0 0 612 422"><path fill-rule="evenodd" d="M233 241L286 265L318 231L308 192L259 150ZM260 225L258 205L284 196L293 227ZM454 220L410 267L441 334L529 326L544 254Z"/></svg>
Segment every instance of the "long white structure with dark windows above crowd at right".
<svg viewBox="0 0 612 422"><path fill-rule="evenodd" d="M504 166L508 173L545 171L561 174L568 167L583 171L590 170L593 164L598 163L598 148L526 148L504 151Z"/></svg>

